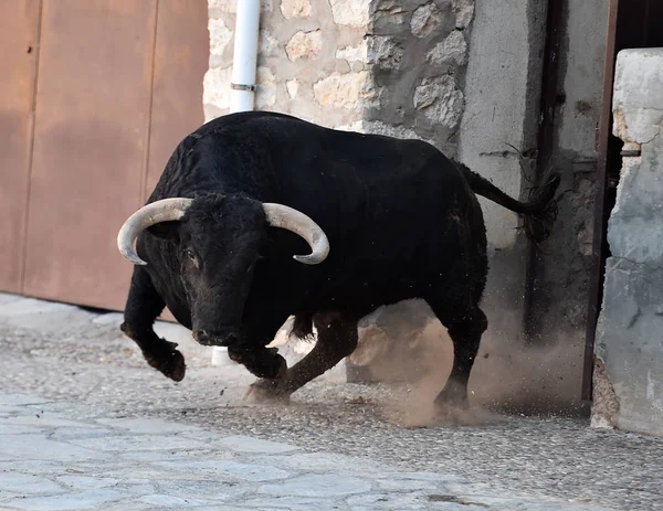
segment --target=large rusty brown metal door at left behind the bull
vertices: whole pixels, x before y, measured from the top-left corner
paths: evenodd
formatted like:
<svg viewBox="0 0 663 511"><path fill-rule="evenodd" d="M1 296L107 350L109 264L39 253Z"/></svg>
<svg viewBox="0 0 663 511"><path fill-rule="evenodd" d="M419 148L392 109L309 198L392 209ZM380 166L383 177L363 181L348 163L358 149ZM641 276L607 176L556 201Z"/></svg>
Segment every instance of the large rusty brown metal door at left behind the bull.
<svg viewBox="0 0 663 511"><path fill-rule="evenodd" d="M115 247L117 230L141 205L176 145L203 121L207 1L21 3L32 8L33 25L41 20L35 94L25 79L17 86L25 96L23 117L30 119L33 103L35 120L33 140L14 135L20 143L9 161L15 170L0 177L15 217L0 221L0 234L9 232L17 247L25 239L24 254L0 252L0 267L12 262L8 276L0 273L0 289L122 309L131 266ZM4 39L17 14L14 0L1 4ZM10 38L31 33L15 25ZM11 65L31 76L28 64ZM28 127L4 118L2 126L30 132L30 123L21 123ZM7 167L4 151L1 158Z"/></svg>

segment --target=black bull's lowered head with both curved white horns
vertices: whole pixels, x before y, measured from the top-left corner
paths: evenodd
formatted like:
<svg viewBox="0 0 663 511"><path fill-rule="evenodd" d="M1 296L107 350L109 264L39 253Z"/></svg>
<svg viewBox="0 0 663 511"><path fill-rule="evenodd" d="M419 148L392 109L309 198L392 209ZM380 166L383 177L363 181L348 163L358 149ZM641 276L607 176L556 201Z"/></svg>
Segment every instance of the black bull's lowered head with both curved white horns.
<svg viewBox="0 0 663 511"><path fill-rule="evenodd" d="M134 249L143 231L175 243L193 337L206 345L230 345L239 339L254 266L270 226L292 231L311 245L309 255L294 256L297 262L316 265L327 257L327 236L304 213L234 195L164 199L147 204L124 223L117 246L131 263L146 265Z"/></svg>

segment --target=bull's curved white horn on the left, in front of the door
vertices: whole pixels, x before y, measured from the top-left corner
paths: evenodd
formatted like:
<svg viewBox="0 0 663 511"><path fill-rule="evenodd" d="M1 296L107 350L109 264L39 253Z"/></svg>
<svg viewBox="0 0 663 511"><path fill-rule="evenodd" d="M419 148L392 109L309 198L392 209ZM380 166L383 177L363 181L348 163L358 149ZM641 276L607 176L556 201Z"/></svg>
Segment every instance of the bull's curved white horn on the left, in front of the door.
<svg viewBox="0 0 663 511"><path fill-rule="evenodd" d="M134 242L138 234L160 222L180 220L192 201L192 199L185 198L162 199L140 207L126 220L119 233L117 233L119 253L135 265L146 265L147 263L138 257L134 249Z"/></svg>

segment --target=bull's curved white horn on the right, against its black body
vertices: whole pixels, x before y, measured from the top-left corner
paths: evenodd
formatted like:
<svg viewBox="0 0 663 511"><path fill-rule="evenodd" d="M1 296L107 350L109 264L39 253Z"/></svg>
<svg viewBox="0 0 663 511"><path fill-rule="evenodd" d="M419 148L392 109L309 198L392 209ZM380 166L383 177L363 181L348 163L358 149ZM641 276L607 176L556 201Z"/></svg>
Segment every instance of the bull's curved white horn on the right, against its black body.
<svg viewBox="0 0 663 511"><path fill-rule="evenodd" d="M327 235L311 217L301 211L283 204L263 203L267 222L273 227L285 228L302 236L311 245L313 251L309 255L295 255L295 260L305 265L318 265L329 254L329 239Z"/></svg>

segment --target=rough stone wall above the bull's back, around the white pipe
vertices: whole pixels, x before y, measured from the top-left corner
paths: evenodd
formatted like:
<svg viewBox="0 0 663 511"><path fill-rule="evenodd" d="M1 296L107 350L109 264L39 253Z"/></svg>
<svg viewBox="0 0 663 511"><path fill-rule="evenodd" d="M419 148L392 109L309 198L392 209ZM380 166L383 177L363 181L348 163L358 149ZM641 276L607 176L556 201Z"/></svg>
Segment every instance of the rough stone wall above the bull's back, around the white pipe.
<svg viewBox="0 0 663 511"><path fill-rule="evenodd" d="M206 120L230 107L236 0L209 0ZM263 0L255 107L456 153L473 0Z"/></svg>

